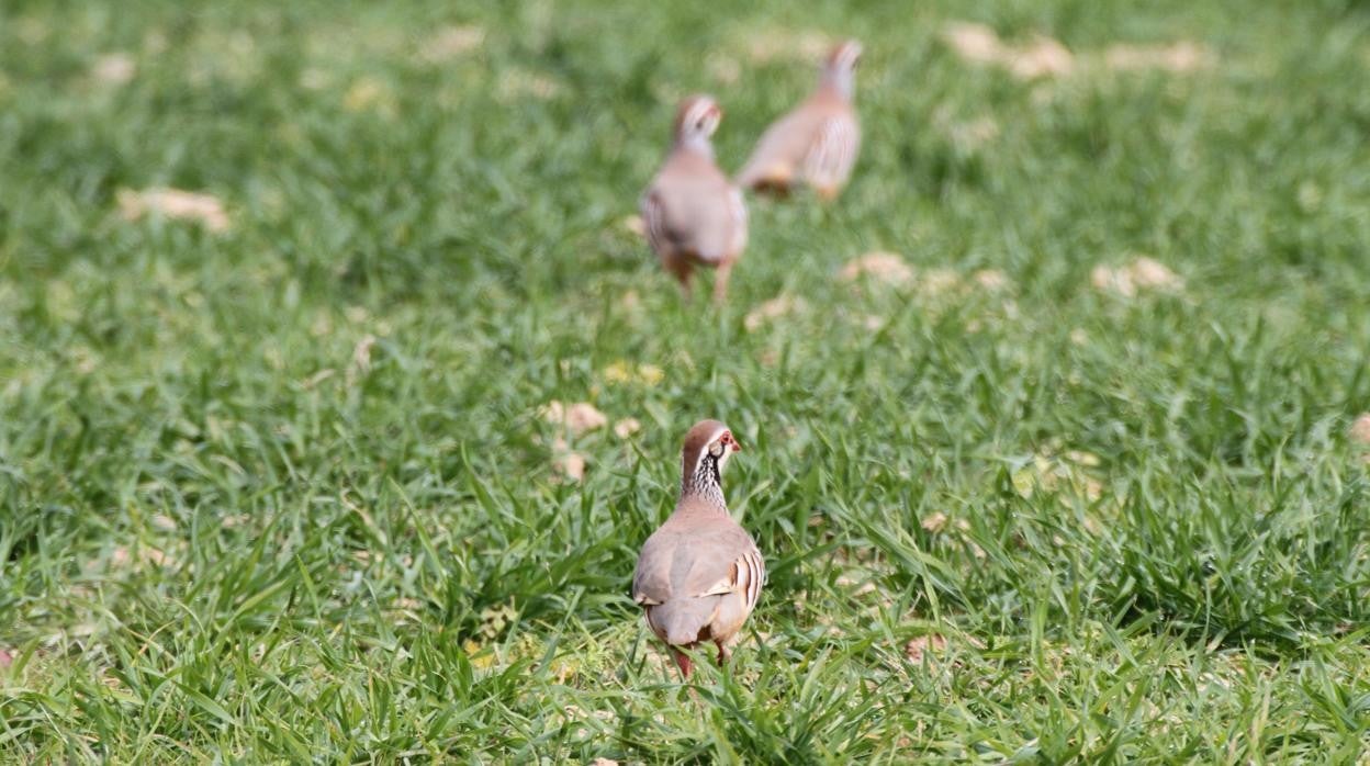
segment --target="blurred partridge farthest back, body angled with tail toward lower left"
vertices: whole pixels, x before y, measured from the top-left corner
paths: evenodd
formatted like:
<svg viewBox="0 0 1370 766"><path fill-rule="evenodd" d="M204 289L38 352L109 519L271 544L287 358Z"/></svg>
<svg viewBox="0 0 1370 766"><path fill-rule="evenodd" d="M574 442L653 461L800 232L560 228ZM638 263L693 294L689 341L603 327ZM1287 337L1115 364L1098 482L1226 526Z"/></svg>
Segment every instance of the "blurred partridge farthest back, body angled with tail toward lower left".
<svg viewBox="0 0 1370 766"><path fill-rule="evenodd" d="M762 134L737 175L740 186L788 192L803 184L825 200L841 192L860 151L852 106L860 52L855 40L833 48L814 95Z"/></svg>

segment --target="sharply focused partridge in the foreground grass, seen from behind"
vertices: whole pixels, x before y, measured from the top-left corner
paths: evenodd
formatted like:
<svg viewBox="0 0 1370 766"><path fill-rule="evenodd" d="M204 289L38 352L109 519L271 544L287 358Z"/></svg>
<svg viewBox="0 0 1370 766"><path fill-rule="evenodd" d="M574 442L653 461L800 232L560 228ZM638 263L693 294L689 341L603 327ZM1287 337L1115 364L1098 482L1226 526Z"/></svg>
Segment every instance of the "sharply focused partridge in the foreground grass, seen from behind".
<svg viewBox="0 0 1370 766"><path fill-rule="evenodd" d="M756 543L727 515L723 502L723 465L738 451L733 432L718 421L689 429L675 511L647 539L633 574L633 600L686 678L692 665L681 648L712 641L719 665L727 662L729 644L766 580Z"/></svg>

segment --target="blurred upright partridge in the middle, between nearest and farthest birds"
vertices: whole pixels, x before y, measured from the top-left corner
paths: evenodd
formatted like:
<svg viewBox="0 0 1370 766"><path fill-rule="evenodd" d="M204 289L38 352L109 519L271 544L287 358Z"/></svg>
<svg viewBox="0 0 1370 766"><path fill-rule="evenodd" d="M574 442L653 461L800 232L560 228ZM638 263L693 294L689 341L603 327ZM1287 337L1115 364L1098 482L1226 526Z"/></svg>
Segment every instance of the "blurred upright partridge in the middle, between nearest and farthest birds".
<svg viewBox="0 0 1370 766"><path fill-rule="evenodd" d="M743 195L714 164L710 137L723 111L708 96L690 96L675 115L675 143L643 195L647 240L689 295L695 266L711 266L714 300L723 300L733 263L747 247Z"/></svg>

